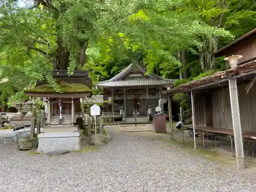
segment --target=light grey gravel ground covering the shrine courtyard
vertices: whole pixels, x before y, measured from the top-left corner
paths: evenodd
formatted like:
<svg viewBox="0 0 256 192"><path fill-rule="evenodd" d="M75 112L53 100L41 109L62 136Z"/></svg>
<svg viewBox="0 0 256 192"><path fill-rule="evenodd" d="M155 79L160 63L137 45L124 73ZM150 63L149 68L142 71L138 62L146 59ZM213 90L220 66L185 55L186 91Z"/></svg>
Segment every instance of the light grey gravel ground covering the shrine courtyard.
<svg viewBox="0 0 256 192"><path fill-rule="evenodd" d="M28 155L2 145L0 191L256 191L255 168L238 172L166 141L121 133L118 126L106 130L113 140L83 154Z"/></svg>

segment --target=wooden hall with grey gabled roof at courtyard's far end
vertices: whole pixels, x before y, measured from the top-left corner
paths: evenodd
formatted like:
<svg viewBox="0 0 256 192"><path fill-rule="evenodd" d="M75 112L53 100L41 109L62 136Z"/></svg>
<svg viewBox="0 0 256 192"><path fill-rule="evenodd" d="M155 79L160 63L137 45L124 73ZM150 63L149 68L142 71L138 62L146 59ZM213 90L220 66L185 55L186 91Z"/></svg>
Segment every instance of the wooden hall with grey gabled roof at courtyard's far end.
<svg viewBox="0 0 256 192"><path fill-rule="evenodd" d="M98 82L96 86L103 88L104 100L110 101L105 104L104 112L118 115L123 107L125 119L133 116L134 111L137 116L146 117L148 107L152 108L153 113L157 106L163 108L161 95L157 93L173 87L174 81L155 74L146 74L143 67L132 63L113 78Z"/></svg>

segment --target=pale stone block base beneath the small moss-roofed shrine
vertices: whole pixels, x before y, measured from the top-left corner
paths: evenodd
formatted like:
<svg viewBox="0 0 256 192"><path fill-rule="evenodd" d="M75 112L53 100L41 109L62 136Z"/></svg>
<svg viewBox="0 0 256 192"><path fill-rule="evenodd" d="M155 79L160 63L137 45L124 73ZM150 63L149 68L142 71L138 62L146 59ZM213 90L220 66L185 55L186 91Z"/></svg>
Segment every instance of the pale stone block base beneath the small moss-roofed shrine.
<svg viewBox="0 0 256 192"><path fill-rule="evenodd" d="M40 133L37 153L80 150L82 130L70 133Z"/></svg>

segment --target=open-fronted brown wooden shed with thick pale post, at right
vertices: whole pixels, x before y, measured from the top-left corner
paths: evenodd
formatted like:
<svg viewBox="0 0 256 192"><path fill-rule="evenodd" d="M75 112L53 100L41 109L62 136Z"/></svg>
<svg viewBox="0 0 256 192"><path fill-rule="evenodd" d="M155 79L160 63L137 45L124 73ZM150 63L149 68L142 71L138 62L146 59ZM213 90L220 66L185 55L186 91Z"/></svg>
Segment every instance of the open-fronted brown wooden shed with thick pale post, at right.
<svg viewBox="0 0 256 192"><path fill-rule="evenodd" d="M236 67L162 92L169 96L191 94L194 131L196 126L199 130L200 127L206 130L207 127L209 132L215 129L229 132L236 146L239 168L245 167L243 139L256 139L255 47L256 29L215 53L216 56L229 58L242 55L237 59Z"/></svg>

